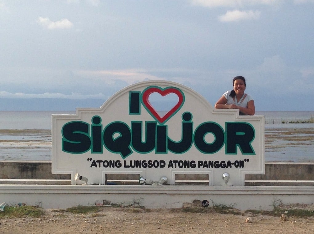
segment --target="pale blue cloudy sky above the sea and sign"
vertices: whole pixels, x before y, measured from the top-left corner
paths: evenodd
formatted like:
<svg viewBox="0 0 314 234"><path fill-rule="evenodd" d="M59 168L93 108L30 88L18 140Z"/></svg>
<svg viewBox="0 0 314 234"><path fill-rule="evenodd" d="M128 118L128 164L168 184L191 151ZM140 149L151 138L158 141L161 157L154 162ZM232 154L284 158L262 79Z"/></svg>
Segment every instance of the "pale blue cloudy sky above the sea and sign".
<svg viewBox="0 0 314 234"><path fill-rule="evenodd" d="M313 111L313 11L314 0L0 0L0 100L106 101L168 80L214 106L243 75L258 111Z"/></svg>

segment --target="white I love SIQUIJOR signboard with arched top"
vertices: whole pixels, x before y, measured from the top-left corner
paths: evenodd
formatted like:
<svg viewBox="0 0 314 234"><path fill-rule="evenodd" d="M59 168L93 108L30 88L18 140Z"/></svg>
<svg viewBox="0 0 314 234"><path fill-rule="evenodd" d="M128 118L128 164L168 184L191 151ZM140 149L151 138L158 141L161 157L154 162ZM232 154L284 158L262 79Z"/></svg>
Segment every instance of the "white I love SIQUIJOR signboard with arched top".
<svg viewBox="0 0 314 234"><path fill-rule="evenodd" d="M210 90L209 90L210 91ZM100 108L52 115L52 173L105 184L106 174L161 177L208 174L209 185L244 185L264 173L264 117L214 109L194 90L169 81L130 85Z"/></svg>

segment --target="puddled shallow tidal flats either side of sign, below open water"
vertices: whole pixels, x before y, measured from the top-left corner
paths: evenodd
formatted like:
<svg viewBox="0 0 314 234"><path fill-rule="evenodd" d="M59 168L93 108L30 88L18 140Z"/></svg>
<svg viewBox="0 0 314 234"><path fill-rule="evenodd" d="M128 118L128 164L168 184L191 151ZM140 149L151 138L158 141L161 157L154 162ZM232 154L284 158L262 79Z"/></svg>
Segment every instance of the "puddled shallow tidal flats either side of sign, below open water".
<svg viewBox="0 0 314 234"><path fill-rule="evenodd" d="M288 125L288 124L287 124ZM314 161L314 127L265 128L265 161ZM290 127L290 126L289 126ZM304 126L303 126L304 127ZM0 161L50 161L51 132L0 130ZM39 131L39 130L38 130Z"/></svg>

